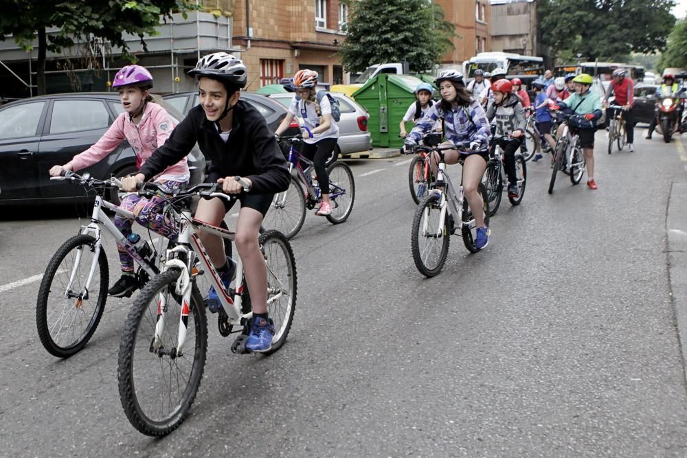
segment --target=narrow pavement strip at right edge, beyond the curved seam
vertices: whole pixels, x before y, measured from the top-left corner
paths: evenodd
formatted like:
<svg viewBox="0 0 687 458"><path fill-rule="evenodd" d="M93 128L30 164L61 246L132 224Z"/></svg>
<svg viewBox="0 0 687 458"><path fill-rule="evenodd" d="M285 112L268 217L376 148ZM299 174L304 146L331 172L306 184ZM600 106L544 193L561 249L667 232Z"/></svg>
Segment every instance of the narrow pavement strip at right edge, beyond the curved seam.
<svg viewBox="0 0 687 458"><path fill-rule="evenodd" d="M666 211L668 284L687 380L687 183L672 183Z"/></svg>

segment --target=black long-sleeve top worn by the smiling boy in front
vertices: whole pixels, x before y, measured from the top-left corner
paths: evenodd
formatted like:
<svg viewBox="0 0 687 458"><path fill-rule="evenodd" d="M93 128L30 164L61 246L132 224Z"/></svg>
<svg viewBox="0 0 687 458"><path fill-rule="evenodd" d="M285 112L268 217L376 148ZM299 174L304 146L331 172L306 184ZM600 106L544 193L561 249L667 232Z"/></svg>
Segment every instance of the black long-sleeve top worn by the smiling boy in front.
<svg viewBox="0 0 687 458"><path fill-rule="evenodd" d="M210 182L238 175L251 180L251 194L285 191L291 176L264 117L243 100L238 101L233 111L232 132L225 143L215 124L205 117L203 107L194 106L139 172L146 176L147 181L169 165L179 162L197 141L205 157L212 161L208 170Z"/></svg>

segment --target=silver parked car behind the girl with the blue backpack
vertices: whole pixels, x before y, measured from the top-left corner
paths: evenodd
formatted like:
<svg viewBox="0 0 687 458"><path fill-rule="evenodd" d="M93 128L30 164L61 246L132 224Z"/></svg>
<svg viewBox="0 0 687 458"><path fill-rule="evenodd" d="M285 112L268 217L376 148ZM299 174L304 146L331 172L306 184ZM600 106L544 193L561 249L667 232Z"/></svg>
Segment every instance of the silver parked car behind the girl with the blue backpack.
<svg viewBox="0 0 687 458"><path fill-rule="evenodd" d="M341 108L341 119L337 123L339 124L339 141L337 141L339 157L371 150L372 135L368 132L368 119L370 119L368 112L346 94L340 92L330 92L330 94L339 100ZM270 94L269 98L277 100L288 108L293 99L293 93ZM300 117L298 120L303 122ZM333 161L333 156L334 154L327 159L327 163Z"/></svg>

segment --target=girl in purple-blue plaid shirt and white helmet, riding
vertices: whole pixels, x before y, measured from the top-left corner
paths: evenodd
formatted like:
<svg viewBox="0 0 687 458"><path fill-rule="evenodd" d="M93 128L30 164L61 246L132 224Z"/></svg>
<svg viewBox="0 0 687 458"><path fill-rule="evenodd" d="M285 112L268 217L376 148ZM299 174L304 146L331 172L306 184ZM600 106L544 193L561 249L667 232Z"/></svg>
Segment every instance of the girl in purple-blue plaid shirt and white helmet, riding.
<svg viewBox="0 0 687 458"><path fill-rule="evenodd" d="M429 113L417 122L405 138L405 146L414 148L423 133L432 130L434 123L443 119L447 143L471 150L447 150L444 158L447 164L455 164L460 157L464 158L463 190L477 225L475 247L482 249L488 244L490 232L484 225L483 203L477 186L482 181L489 157L489 122L480 102L473 99L465 89L462 73L455 70L440 71L434 84L439 87L441 100L429 108ZM433 157L431 165L436 173L438 154Z"/></svg>

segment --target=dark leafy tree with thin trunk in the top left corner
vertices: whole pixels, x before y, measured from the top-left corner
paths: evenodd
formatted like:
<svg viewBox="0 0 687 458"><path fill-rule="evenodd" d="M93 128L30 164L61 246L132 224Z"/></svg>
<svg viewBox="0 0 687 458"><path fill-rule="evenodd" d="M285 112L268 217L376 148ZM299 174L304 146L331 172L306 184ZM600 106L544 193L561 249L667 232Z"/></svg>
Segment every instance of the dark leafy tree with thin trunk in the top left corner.
<svg viewBox="0 0 687 458"><path fill-rule="evenodd" d="M196 8L190 0L1 0L0 7L0 40L12 35L16 44L28 51L38 36L38 94L45 93L47 51L59 53L76 43L100 38L121 47L124 58L135 62L122 34L139 36L146 49L144 36L157 34L160 16ZM51 27L59 30L48 37L46 30Z"/></svg>

